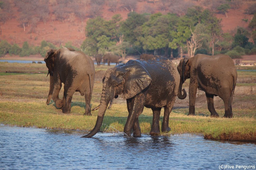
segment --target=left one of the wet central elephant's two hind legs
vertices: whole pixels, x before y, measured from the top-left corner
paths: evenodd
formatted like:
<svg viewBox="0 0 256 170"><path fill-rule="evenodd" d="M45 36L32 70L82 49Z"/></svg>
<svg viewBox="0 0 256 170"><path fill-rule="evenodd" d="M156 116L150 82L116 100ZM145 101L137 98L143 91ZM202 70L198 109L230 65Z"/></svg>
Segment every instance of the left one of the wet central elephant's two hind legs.
<svg viewBox="0 0 256 170"><path fill-rule="evenodd" d="M162 107L151 108L151 110L153 111L153 123L152 123L151 131L149 132L150 135L160 134L159 119L160 119L161 109Z"/></svg>

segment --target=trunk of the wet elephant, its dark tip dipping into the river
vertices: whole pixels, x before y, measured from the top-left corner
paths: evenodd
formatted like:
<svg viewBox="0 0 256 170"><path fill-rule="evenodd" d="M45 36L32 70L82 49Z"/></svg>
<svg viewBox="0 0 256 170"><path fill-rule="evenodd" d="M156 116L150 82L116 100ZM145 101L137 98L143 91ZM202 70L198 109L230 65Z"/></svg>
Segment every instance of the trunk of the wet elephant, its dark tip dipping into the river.
<svg viewBox="0 0 256 170"><path fill-rule="evenodd" d="M108 95L106 96L105 94L106 93L102 92L101 102L100 102L100 105L99 105L99 112L98 112L98 117L97 117L96 124L95 124L93 130L90 133L88 133L85 136L82 136L83 138L92 137L99 131L99 129L102 125L102 122L103 122L104 114L107 110L107 106L108 106L108 103L110 102L110 98L111 98Z"/></svg>

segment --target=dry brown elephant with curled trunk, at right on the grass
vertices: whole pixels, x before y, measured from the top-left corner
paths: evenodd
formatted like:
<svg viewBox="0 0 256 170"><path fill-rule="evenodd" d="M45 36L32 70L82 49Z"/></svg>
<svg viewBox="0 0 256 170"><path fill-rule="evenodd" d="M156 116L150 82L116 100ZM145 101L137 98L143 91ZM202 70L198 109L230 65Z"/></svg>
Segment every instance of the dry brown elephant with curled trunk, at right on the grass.
<svg viewBox="0 0 256 170"><path fill-rule="evenodd" d="M237 72L233 60L228 55L209 56L197 54L180 60L177 66L180 74L179 99L185 99L187 93L182 84L190 78L189 115L195 115L196 91L205 91L208 110L211 116L219 117L214 109L214 96L219 96L225 105L224 117L232 117L232 100L236 85ZM181 90L182 89L182 90ZM182 92L183 91L183 95Z"/></svg>

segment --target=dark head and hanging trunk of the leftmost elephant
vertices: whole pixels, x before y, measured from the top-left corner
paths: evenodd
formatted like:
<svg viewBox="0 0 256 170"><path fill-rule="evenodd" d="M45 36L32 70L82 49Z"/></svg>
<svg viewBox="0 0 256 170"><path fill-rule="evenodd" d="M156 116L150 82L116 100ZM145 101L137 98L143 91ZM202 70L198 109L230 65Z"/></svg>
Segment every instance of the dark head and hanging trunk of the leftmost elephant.
<svg viewBox="0 0 256 170"><path fill-rule="evenodd" d="M48 68L47 76L50 74L50 88L49 88L49 94L48 94L47 101L46 101L46 104L48 104L48 105L49 105L51 97L53 95L53 84L54 84L53 83L54 82L53 71L54 71L55 55L56 55L56 49L49 49L44 58L44 61Z"/></svg>

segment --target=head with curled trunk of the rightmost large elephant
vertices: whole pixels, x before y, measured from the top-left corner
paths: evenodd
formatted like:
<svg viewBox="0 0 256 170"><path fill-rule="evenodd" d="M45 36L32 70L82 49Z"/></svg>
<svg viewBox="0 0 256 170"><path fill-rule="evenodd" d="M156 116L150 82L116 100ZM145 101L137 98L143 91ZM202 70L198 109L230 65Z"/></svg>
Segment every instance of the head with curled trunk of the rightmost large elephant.
<svg viewBox="0 0 256 170"><path fill-rule="evenodd" d="M182 89L182 85L186 79L189 79L190 64L188 60L189 60L188 57L181 59L179 62L179 65L177 66L177 69L180 75L180 82L179 82L179 89L178 89L179 99L185 99L187 97L187 92L185 89ZM182 95L182 91L183 91L183 95Z"/></svg>

